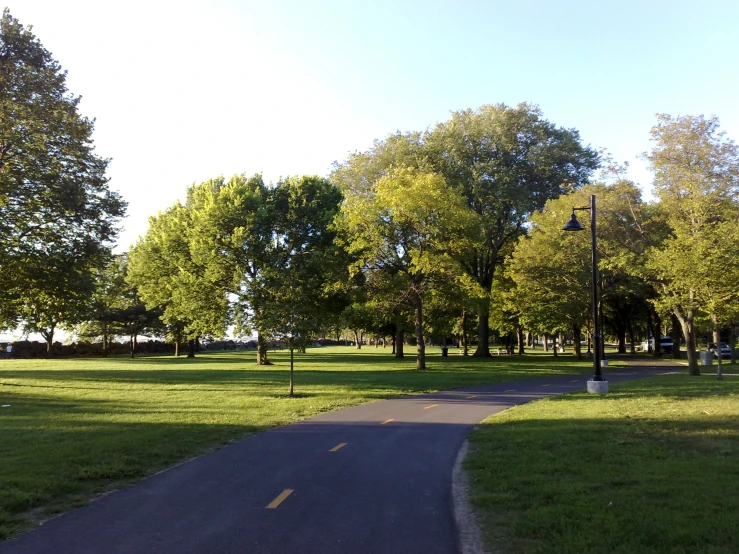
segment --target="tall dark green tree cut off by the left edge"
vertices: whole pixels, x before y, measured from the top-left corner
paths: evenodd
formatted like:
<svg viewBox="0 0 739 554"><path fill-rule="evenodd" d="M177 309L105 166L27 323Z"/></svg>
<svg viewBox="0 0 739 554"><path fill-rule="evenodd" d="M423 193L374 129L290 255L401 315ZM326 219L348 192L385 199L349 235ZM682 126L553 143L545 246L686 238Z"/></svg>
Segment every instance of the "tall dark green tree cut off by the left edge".
<svg viewBox="0 0 739 554"><path fill-rule="evenodd" d="M89 273L107 261L125 212L125 202L108 188L108 160L94 152L93 121L78 113L79 97L65 81L58 62L6 9L0 20L0 327L30 317L27 329L51 331L47 340L72 315L68 301L91 290ZM39 273L41 264L54 278Z"/></svg>

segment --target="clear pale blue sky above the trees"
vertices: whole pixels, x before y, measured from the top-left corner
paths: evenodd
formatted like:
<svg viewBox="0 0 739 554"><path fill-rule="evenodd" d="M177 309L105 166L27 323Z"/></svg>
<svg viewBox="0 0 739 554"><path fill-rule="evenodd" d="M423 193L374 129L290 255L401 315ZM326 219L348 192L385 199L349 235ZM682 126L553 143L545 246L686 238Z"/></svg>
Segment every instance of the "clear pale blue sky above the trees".
<svg viewBox="0 0 739 554"><path fill-rule="evenodd" d="M655 113L739 139L737 1L7 1L97 119L121 249L193 182L326 175L487 103L538 104L646 190Z"/></svg>

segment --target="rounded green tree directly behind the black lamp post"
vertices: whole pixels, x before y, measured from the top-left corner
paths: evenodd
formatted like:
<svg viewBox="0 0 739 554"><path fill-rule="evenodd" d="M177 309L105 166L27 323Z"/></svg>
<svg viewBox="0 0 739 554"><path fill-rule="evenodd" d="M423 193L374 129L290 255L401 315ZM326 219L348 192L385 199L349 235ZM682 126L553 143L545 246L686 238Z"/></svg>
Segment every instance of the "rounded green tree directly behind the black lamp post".
<svg viewBox="0 0 739 554"><path fill-rule="evenodd" d="M506 273L516 282L512 298L527 328L566 330L579 337L591 326L590 235L561 230L572 208L587 205L591 194L598 199L598 273L606 283L601 292L603 317L625 352L626 333L631 330L633 344L634 321L647 309L643 253L647 241L660 232L633 183L587 185L547 202L531 217L531 231L517 244Z"/></svg>

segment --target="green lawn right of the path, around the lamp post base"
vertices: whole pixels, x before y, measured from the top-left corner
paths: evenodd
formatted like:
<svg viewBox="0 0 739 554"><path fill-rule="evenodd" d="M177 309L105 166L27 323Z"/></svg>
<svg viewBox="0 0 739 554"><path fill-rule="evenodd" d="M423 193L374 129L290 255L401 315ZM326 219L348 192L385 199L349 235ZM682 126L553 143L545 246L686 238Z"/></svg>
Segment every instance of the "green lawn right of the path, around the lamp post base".
<svg viewBox="0 0 739 554"><path fill-rule="evenodd" d="M739 375L672 375L487 419L466 469L495 552L739 551Z"/></svg>

